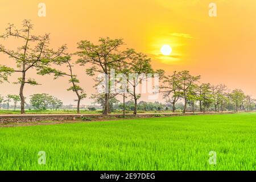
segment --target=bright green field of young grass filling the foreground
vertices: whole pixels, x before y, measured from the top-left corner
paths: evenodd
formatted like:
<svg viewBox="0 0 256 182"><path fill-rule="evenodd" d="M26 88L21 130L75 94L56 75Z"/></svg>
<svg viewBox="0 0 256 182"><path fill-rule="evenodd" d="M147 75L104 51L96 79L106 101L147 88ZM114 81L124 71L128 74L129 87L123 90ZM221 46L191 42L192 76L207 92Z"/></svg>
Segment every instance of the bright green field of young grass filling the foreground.
<svg viewBox="0 0 256 182"><path fill-rule="evenodd" d="M255 155L256 113L0 128L1 170L256 170Z"/></svg>

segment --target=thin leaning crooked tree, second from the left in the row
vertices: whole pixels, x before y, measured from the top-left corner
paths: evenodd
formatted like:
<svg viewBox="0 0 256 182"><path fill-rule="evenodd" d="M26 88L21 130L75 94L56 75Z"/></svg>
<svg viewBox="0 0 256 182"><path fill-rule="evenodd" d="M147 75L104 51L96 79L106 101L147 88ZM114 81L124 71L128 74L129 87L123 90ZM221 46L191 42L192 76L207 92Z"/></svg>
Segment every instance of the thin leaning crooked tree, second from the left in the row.
<svg viewBox="0 0 256 182"><path fill-rule="evenodd" d="M81 100L86 98L86 93L84 92L84 89L82 89L81 86L79 85L80 81L77 78L77 75L74 74L71 56L65 54L65 56L62 56L62 57L59 57L59 59L56 59L54 61L54 64L67 65L69 72L65 73L65 72L59 71L58 69L55 69L55 68L45 67L44 69L41 69L39 74L46 75L46 74L53 73L55 76L55 79L59 78L60 76L69 77L69 83L72 84L72 86L70 88L68 88L67 90L68 91L72 90L73 92L76 93L77 100L75 100L75 101L77 101L77 114L79 114L80 113L80 102L81 102Z"/></svg>

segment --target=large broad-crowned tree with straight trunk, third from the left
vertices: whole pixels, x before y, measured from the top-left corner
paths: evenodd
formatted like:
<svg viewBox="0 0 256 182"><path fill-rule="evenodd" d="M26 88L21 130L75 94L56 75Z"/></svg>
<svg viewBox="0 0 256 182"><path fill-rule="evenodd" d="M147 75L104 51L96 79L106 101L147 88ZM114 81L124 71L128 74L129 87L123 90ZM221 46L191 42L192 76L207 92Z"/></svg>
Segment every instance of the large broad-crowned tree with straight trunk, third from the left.
<svg viewBox="0 0 256 182"><path fill-rule="evenodd" d="M105 75L105 104L103 114L109 113L109 92L110 92L110 71L115 69L118 64L125 61L134 51L126 49L120 51L124 45L122 39L100 38L98 45L93 44L88 40L82 40L78 43L80 51L77 55L80 57L77 63L80 65L88 64L90 68L86 69L86 73L94 76L95 73L103 73Z"/></svg>

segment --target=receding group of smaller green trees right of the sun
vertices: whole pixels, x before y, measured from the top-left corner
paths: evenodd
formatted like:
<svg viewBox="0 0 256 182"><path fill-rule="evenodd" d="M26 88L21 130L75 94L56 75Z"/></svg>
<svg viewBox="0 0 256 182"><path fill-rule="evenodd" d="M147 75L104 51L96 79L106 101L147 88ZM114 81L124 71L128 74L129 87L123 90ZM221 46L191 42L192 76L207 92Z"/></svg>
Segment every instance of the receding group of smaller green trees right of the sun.
<svg viewBox="0 0 256 182"><path fill-rule="evenodd" d="M199 84L200 76L192 76L189 71L174 72L171 76L164 76L160 86L166 102L172 104L175 111L175 104L179 100L184 101L183 113L187 111L187 104L191 105L195 112L196 104L199 104L200 111L209 111L211 106L214 111L234 109L253 110L256 100L246 95L241 89L228 91L226 85L211 85L209 83Z"/></svg>

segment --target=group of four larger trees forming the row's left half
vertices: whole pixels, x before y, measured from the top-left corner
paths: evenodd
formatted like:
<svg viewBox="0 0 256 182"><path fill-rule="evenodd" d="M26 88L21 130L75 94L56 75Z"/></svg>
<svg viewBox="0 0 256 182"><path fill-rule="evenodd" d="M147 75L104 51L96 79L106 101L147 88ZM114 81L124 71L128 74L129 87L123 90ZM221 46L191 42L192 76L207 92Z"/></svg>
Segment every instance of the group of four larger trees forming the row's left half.
<svg viewBox="0 0 256 182"><path fill-rule="evenodd" d="M110 71L114 69L116 73L122 72L123 74L136 73L154 73L151 68L150 59L143 53L137 53L134 49L126 49L121 51L121 47L125 45L122 39L110 39L100 38L99 44L93 44L88 40L81 40L78 43L78 51L75 53L67 53L67 46L61 46L54 51L49 48L49 34L43 36L35 36L31 34L33 26L29 20L23 21L23 28L16 29L13 24L9 24L6 28L5 34L0 38L17 38L16 40L22 40L24 45L18 47L16 50L6 49L0 44L0 52L8 55L10 59L15 60L16 68L10 68L6 65L0 65L0 82L8 81L8 77L14 73L20 73L18 81L14 84L19 84L19 96L20 96L20 110L21 113L25 113L25 97L24 86L27 84L38 85L38 82L34 78L28 78L27 73L32 69L36 69L38 75L53 74L54 78L60 76L67 76L71 87L68 90L72 90L77 95L77 113L79 113L80 101L86 97L84 90L79 86L79 79L73 73L72 67L72 55L79 56L76 60L77 64L81 66L88 65L86 73L89 76L94 76L96 73L105 74L105 93L94 94L92 98L98 100L98 102L104 102L103 114L110 112L109 102L121 93L110 92ZM67 65L69 72L63 72L55 68L55 65ZM143 78L133 78L129 81L129 84L133 86L133 90L129 94L137 102L139 94L135 93L135 88L141 82ZM100 80L95 80L96 85L100 84ZM128 78L127 78L128 81ZM128 88L125 88L128 90ZM136 107L137 105L135 105ZM135 109L136 114L137 109Z"/></svg>

